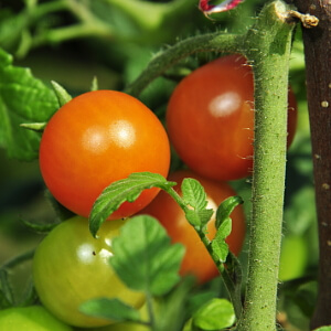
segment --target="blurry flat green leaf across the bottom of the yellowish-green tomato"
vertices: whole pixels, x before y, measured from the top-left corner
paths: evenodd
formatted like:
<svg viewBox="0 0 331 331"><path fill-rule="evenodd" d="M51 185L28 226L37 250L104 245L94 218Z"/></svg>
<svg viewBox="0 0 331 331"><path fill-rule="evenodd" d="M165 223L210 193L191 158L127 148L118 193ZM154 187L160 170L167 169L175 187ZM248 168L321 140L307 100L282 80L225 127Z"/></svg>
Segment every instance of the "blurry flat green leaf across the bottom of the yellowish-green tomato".
<svg viewBox="0 0 331 331"><path fill-rule="evenodd" d="M140 321L139 311L119 299L100 298L88 300L81 305L79 311L95 318L103 318L118 322Z"/></svg>

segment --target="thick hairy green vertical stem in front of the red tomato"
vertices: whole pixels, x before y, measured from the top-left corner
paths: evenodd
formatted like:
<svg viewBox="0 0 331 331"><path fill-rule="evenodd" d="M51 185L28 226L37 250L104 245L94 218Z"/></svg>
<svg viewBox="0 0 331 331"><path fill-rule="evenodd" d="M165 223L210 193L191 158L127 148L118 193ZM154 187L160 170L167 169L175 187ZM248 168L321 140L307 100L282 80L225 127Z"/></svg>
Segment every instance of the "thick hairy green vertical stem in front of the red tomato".
<svg viewBox="0 0 331 331"><path fill-rule="evenodd" d="M287 19L282 2L266 6L245 43L255 76L256 113L248 282L239 331L276 330L293 29Z"/></svg>

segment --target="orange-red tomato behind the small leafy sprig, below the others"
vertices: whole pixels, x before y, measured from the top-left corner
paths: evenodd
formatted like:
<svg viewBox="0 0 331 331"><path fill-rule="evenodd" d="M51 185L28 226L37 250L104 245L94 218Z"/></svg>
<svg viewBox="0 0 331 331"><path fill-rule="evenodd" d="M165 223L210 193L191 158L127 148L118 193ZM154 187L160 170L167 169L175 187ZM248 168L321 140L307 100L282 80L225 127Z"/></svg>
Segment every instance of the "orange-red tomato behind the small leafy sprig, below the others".
<svg viewBox="0 0 331 331"><path fill-rule="evenodd" d="M184 178L196 179L205 189L207 194L209 207L214 210L228 196L236 195L235 191L226 182L214 182L204 179L192 171L181 170L169 175L170 181L178 184L174 190L181 194L180 185ZM205 282L218 275L218 270L211 258L209 252L201 242L193 226L185 218L182 209L175 201L164 191L161 191L158 196L141 212L148 214L164 226L173 243L182 243L185 248L185 256L181 266L181 275L193 274L196 276L200 284ZM226 243L231 252L238 255L244 237L245 237L245 216L243 207L236 206L232 215L233 228L231 235L226 238ZM215 214L207 224L207 237L212 239L215 236Z"/></svg>

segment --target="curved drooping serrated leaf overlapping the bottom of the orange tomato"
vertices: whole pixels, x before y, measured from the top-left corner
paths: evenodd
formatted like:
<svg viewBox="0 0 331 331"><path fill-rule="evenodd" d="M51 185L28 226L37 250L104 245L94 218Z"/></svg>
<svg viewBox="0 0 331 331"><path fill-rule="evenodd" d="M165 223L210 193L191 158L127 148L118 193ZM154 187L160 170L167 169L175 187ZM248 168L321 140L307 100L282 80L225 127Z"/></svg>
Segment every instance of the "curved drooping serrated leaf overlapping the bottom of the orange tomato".
<svg viewBox="0 0 331 331"><path fill-rule="evenodd" d="M168 190L174 185L174 182L168 182L161 174L151 172L131 173L128 178L114 182L103 191L92 209L89 215L92 235L96 236L105 220L125 201L134 202L146 189Z"/></svg>

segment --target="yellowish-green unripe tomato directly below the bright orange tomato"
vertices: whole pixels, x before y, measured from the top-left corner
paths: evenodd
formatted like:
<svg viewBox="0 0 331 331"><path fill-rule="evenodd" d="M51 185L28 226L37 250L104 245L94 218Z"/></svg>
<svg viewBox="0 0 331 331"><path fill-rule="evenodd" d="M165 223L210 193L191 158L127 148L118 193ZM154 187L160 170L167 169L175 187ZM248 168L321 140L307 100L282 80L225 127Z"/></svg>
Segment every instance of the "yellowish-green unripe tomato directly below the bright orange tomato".
<svg viewBox="0 0 331 331"><path fill-rule="evenodd" d="M88 221L75 216L57 225L36 248L35 289L42 303L60 320L83 328L110 324L109 320L78 311L83 302L100 297L118 298L135 308L142 306L143 295L128 289L109 264L111 241L125 222L104 223L94 238Z"/></svg>

